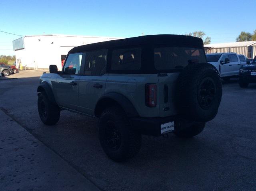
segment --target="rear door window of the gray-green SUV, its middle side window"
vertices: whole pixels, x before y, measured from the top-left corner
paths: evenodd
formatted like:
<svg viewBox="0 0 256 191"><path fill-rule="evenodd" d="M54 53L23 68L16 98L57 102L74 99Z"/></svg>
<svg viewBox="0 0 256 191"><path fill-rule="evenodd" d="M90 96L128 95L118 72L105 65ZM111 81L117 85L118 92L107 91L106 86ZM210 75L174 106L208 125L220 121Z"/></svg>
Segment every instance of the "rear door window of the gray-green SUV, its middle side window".
<svg viewBox="0 0 256 191"><path fill-rule="evenodd" d="M106 73L107 50L85 53L85 75L101 76Z"/></svg>

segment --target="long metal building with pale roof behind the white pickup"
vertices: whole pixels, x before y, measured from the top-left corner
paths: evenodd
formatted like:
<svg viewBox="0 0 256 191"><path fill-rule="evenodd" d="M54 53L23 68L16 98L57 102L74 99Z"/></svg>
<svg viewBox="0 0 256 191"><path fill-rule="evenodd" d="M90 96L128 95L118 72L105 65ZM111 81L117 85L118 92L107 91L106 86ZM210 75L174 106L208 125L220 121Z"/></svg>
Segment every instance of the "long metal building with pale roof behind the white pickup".
<svg viewBox="0 0 256 191"><path fill-rule="evenodd" d="M254 58L256 55L256 41L207 44L204 45L204 49L206 54L235 52L248 58Z"/></svg>

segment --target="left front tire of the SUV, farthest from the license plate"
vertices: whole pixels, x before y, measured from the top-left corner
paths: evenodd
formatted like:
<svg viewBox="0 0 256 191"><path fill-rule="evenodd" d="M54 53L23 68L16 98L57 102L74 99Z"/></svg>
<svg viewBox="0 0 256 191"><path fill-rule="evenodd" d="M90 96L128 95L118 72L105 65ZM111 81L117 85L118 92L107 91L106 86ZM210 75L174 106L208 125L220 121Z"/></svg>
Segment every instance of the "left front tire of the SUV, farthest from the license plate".
<svg viewBox="0 0 256 191"><path fill-rule="evenodd" d="M60 108L50 102L47 95L40 93L38 95L38 113L42 122L46 125L54 125L60 119Z"/></svg>

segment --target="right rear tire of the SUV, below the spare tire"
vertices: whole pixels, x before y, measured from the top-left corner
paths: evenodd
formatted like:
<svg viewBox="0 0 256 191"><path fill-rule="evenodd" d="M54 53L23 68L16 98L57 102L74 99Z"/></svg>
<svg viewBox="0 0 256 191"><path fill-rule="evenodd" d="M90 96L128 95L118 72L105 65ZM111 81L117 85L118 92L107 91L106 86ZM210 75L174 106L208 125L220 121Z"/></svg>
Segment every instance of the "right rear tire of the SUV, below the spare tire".
<svg viewBox="0 0 256 191"><path fill-rule="evenodd" d="M192 138L200 134L204 130L204 127L205 127L205 123L201 122L198 124L194 124L188 128L185 128L181 131L178 131L178 132L174 131L174 134L181 138Z"/></svg>

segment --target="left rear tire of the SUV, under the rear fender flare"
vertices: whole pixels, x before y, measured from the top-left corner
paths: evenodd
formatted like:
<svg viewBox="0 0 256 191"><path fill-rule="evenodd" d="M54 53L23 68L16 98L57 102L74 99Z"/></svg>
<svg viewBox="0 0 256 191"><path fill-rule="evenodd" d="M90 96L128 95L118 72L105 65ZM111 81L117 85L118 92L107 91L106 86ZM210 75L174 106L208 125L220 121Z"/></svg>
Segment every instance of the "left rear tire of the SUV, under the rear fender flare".
<svg viewBox="0 0 256 191"><path fill-rule="evenodd" d="M114 133L109 136L111 128L117 136ZM115 142L111 139L113 136ZM101 113L99 137L104 152L114 161L125 161L140 150L141 134L131 127L124 110L118 106L106 108Z"/></svg>

